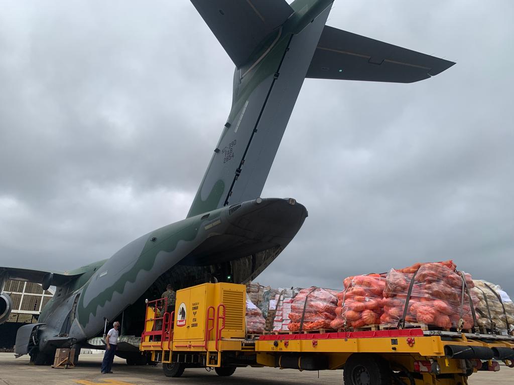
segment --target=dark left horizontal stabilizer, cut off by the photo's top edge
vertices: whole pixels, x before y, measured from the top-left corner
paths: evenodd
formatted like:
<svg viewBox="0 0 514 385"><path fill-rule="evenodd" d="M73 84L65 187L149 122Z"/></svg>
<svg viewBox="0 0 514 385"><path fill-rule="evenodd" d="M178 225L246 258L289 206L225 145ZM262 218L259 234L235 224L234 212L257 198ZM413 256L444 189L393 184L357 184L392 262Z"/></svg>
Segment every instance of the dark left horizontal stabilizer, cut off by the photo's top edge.
<svg viewBox="0 0 514 385"><path fill-rule="evenodd" d="M294 12L285 0L191 0L236 67Z"/></svg>

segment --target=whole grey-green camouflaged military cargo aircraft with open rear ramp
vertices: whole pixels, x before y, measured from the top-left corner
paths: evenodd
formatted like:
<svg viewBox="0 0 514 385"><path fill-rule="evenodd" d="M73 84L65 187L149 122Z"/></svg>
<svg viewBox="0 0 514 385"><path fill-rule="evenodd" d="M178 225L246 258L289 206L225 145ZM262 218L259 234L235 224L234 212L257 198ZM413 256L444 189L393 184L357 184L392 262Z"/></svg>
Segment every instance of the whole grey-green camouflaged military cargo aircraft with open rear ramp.
<svg viewBox="0 0 514 385"><path fill-rule="evenodd" d="M326 26L333 0L191 2L235 71L232 108L189 214L76 270L0 267L0 284L57 287L39 323L17 332L16 354L36 364L50 362L57 348L84 346L106 319L122 322L124 335L140 335L144 300L160 297L167 283L245 283L277 258L307 210L294 199L260 195L305 78L411 83L454 64ZM0 322L11 309L2 294Z"/></svg>

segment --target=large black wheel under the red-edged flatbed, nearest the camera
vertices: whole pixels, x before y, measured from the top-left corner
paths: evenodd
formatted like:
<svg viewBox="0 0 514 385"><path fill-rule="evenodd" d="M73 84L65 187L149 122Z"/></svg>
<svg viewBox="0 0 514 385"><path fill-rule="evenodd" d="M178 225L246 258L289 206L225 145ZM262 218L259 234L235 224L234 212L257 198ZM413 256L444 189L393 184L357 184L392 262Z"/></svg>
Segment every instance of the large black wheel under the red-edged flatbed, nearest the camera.
<svg viewBox="0 0 514 385"><path fill-rule="evenodd" d="M382 357L375 354L352 354L344 364L345 385L389 385L391 369Z"/></svg>

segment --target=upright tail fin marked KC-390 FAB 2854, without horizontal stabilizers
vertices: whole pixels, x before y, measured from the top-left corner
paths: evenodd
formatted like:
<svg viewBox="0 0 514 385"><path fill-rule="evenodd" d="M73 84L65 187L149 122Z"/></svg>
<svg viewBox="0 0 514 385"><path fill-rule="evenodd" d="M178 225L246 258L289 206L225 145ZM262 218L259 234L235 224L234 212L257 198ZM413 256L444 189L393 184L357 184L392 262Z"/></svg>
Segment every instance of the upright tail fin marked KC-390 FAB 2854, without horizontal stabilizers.
<svg viewBox="0 0 514 385"><path fill-rule="evenodd" d="M332 2L312 3L235 69L232 109L188 217L260 196Z"/></svg>

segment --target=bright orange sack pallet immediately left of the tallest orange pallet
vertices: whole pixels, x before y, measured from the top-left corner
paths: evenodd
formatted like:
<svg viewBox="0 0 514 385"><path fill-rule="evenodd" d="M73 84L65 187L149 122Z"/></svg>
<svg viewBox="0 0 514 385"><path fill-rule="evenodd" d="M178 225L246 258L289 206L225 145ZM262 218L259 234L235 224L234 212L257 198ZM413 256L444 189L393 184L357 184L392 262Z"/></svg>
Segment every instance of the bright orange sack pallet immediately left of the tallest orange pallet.
<svg viewBox="0 0 514 385"><path fill-rule="evenodd" d="M358 275L345 278L343 284L343 291L337 294L336 318L331 328L357 329L379 324L386 278L379 274Z"/></svg>

